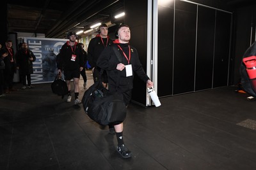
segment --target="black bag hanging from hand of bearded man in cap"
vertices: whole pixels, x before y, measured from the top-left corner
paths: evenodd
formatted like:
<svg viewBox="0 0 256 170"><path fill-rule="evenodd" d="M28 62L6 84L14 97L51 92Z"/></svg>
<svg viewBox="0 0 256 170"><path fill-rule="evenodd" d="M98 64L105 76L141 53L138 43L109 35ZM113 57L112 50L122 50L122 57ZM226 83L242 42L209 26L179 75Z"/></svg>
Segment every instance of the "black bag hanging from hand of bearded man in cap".
<svg viewBox="0 0 256 170"><path fill-rule="evenodd" d="M54 94L57 94L58 96L63 97L68 94L68 87L67 83L63 78L60 76L60 74L57 74L55 80L51 84L52 92Z"/></svg>

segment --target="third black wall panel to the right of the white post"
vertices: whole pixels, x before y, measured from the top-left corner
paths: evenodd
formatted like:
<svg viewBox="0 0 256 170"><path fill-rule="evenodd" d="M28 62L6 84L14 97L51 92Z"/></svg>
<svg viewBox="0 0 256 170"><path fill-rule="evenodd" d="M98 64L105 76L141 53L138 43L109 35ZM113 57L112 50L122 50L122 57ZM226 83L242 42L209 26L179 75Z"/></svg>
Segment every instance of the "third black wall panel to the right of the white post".
<svg viewBox="0 0 256 170"><path fill-rule="evenodd" d="M195 90L212 88L216 10L198 6Z"/></svg>

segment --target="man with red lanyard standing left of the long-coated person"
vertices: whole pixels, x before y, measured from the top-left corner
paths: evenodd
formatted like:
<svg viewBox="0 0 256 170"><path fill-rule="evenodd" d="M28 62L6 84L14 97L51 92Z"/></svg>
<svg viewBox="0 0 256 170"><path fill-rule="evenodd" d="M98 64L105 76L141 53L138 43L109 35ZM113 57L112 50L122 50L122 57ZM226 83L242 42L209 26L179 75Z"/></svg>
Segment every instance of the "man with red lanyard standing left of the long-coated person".
<svg viewBox="0 0 256 170"><path fill-rule="evenodd" d="M12 91L17 91L16 89L13 89L13 76L14 73L16 73L16 64L15 64L15 59L14 59L14 50L12 48L12 41L7 40L5 42L4 49L8 52L7 57L4 58L4 64L5 64L5 69L4 69L4 80L5 80L5 85L4 85L4 90L6 93L10 93Z"/></svg>

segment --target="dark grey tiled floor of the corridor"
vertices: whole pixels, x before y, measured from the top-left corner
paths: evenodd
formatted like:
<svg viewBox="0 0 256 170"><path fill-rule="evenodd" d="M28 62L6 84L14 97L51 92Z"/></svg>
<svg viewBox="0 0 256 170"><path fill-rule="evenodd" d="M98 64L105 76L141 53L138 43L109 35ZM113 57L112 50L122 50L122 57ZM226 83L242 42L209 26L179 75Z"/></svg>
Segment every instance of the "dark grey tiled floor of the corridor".
<svg viewBox="0 0 256 170"><path fill-rule="evenodd" d="M0 97L1 170L256 169L256 101L236 87L165 97L159 108L130 104L124 141L131 159L118 155L116 136L83 105L52 94L49 83L35 87Z"/></svg>

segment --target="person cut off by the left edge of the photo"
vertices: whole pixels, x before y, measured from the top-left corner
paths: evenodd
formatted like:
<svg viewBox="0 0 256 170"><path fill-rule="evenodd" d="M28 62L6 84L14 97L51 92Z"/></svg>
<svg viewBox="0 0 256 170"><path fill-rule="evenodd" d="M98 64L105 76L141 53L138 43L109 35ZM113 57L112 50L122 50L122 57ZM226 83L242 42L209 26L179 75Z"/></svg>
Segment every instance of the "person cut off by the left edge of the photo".
<svg viewBox="0 0 256 170"><path fill-rule="evenodd" d="M5 49L0 49L0 97L4 95L4 58L7 57L8 52Z"/></svg>

